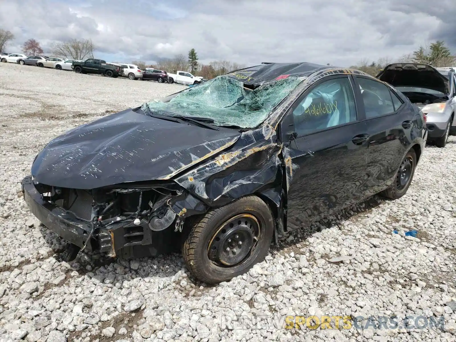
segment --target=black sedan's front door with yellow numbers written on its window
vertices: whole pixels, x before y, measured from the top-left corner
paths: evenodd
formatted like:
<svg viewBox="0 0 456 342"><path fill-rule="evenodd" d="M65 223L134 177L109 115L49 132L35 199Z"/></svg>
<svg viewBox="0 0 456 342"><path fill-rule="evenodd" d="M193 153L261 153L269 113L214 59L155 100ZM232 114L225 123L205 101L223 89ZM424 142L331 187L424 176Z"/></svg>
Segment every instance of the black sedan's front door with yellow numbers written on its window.
<svg viewBox="0 0 456 342"><path fill-rule="evenodd" d="M319 80L280 125L289 230L365 197L368 128L353 88L349 75Z"/></svg>

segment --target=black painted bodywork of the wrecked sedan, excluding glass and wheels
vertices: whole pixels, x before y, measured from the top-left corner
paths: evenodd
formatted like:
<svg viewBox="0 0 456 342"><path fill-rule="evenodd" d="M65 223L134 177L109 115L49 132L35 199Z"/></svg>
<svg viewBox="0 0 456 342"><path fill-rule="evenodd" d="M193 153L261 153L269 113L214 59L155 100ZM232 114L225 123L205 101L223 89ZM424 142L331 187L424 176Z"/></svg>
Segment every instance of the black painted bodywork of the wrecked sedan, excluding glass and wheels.
<svg viewBox="0 0 456 342"><path fill-rule="evenodd" d="M404 105L398 112L366 119L356 78L374 78L360 71L295 63L261 65L229 75L258 85L290 74L306 78L256 129L207 130L125 110L52 140L33 163L34 182L101 190L135 189L139 181L143 187L171 181L181 189L166 202L176 214L176 231L189 216L256 194L274 213L277 241L291 230L388 187L411 148L420 156L427 133L416 107L399 95ZM303 137L290 135L293 104L328 77L350 78L358 121ZM156 130L158 126L163 132ZM190 139L187 145L178 136L179 130ZM160 150L166 152L160 154ZM36 207L33 201L27 203ZM145 236L140 245L147 253L153 239L146 235L161 232L151 232L144 220L140 228ZM123 245L122 232L114 227L105 232L120 239L112 243L112 255L147 255L135 254L130 245Z"/></svg>

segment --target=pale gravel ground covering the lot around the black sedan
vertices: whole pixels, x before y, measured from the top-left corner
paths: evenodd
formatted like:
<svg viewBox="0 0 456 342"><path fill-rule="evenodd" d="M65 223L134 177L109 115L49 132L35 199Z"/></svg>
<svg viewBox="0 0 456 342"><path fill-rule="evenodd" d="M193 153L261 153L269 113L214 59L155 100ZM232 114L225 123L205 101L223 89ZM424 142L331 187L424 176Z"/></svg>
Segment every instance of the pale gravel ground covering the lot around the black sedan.
<svg viewBox="0 0 456 342"><path fill-rule="evenodd" d="M178 254L57 262L63 241L21 194L36 153L76 125L181 88L0 64L0 341L455 341L456 137L426 148L403 198L373 197L295 232L228 283L195 281ZM295 315L373 321L285 329ZM394 315L397 328L378 326ZM405 315L446 323L405 329Z"/></svg>

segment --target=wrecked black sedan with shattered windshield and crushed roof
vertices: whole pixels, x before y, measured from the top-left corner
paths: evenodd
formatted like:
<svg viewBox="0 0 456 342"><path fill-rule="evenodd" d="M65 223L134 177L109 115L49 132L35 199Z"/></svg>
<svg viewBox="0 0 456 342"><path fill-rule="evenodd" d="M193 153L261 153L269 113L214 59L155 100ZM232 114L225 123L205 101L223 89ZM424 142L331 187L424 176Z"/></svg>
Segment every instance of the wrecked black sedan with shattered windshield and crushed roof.
<svg viewBox="0 0 456 342"><path fill-rule="evenodd" d="M127 259L179 246L195 277L217 283L328 213L403 196L424 121L360 71L264 63L70 130L22 187L67 240L66 261L81 249Z"/></svg>

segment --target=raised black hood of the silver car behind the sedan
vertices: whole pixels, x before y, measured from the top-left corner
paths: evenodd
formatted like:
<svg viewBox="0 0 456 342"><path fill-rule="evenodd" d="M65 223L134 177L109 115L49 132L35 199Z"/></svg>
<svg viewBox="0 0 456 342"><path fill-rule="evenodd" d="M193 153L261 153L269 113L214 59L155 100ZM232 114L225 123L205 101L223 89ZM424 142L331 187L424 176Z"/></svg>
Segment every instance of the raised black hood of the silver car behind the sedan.
<svg viewBox="0 0 456 342"><path fill-rule="evenodd" d="M444 94L450 92L446 77L427 64L389 64L377 75L377 78L393 87L427 88Z"/></svg>

